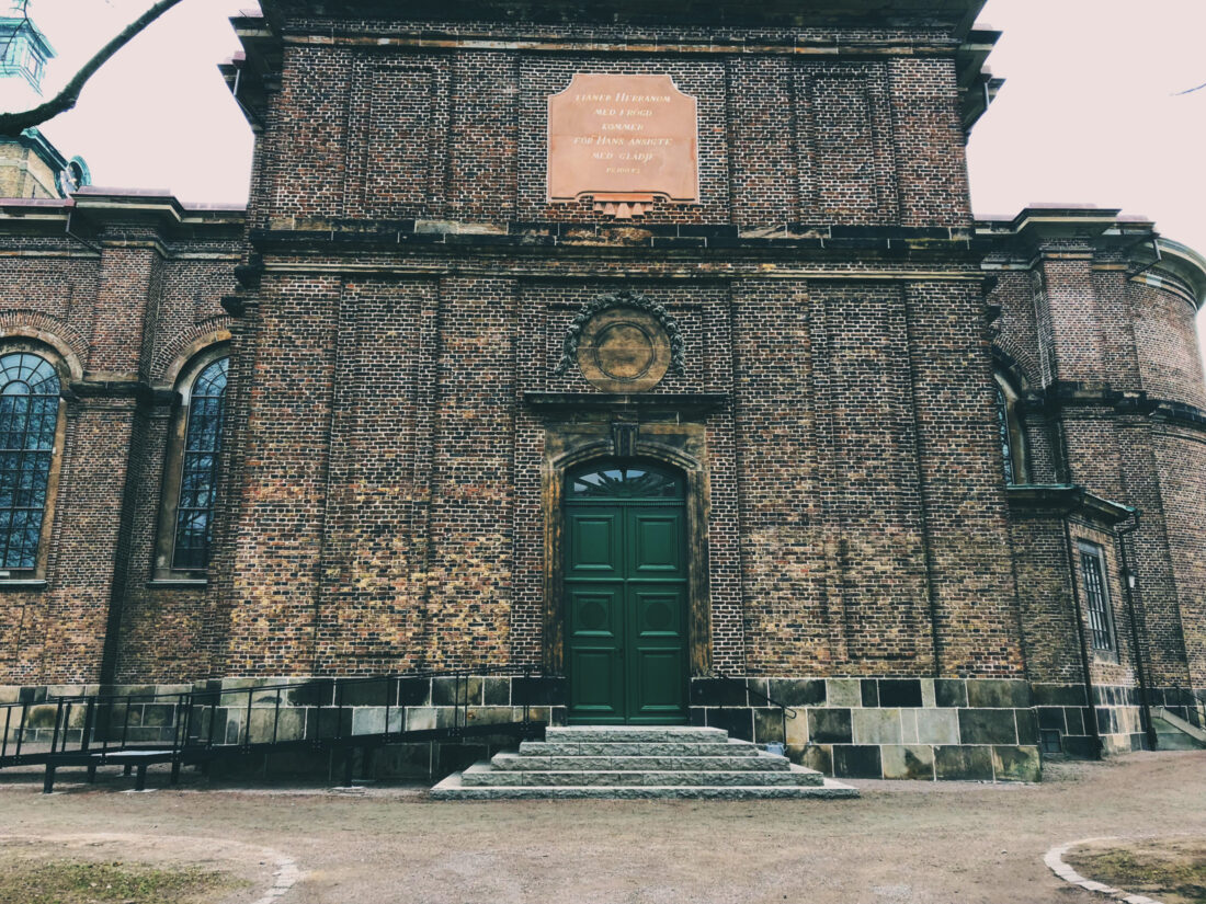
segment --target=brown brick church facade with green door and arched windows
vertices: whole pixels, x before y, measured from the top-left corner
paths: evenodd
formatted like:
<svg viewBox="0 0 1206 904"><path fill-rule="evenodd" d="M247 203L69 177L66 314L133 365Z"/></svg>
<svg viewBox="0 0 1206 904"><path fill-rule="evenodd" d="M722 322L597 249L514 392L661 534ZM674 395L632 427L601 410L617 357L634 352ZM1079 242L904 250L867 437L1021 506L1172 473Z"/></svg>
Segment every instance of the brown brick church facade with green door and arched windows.
<svg viewBox="0 0 1206 904"><path fill-rule="evenodd" d="M1200 718L1206 260L973 219L982 4L263 5L246 211L0 201L0 692L531 665L926 779ZM552 196L584 75L693 198Z"/></svg>

